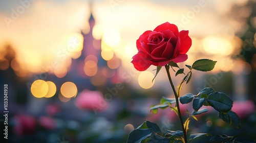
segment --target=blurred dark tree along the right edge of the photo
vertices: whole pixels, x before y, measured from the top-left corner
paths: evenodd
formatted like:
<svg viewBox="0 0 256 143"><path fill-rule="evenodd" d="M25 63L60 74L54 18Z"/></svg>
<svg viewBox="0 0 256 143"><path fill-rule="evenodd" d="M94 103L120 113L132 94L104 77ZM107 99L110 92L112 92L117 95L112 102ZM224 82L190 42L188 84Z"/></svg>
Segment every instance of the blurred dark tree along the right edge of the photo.
<svg viewBox="0 0 256 143"><path fill-rule="evenodd" d="M242 40L242 45L236 57L242 58L250 64L251 72L247 75L248 79L248 94L251 100L256 104L256 1L248 1L244 6L234 5L231 14L242 28L237 32Z"/></svg>

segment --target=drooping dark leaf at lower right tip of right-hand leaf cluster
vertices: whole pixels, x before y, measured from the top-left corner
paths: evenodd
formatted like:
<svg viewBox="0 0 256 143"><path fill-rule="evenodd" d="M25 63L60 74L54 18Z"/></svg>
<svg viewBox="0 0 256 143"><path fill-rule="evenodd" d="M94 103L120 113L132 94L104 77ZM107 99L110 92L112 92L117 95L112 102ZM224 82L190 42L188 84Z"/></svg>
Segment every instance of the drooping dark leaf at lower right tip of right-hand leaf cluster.
<svg viewBox="0 0 256 143"><path fill-rule="evenodd" d="M233 111L228 111L227 113L220 112L219 117L225 121L226 123L239 128L240 127L240 120L238 115Z"/></svg>

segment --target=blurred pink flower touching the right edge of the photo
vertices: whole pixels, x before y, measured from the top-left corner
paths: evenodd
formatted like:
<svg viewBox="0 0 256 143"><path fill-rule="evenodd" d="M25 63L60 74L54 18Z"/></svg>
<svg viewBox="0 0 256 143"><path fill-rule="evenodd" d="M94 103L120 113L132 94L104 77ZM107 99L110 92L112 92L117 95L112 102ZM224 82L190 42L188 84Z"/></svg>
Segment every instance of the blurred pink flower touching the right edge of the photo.
<svg viewBox="0 0 256 143"><path fill-rule="evenodd" d="M232 111L238 114L239 118L245 118L249 114L253 113L255 105L253 101L234 101Z"/></svg>

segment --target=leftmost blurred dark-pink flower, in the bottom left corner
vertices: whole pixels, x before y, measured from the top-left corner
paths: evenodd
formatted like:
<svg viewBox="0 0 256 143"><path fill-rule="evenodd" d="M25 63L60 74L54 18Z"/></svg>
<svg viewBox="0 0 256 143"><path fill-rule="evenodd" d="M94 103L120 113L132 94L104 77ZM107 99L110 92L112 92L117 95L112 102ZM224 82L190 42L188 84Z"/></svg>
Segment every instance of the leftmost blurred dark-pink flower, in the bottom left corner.
<svg viewBox="0 0 256 143"><path fill-rule="evenodd" d="M15 115L13 117L13 132L17 135L33 134L35 131L36 119L29 115Z"/></svg>

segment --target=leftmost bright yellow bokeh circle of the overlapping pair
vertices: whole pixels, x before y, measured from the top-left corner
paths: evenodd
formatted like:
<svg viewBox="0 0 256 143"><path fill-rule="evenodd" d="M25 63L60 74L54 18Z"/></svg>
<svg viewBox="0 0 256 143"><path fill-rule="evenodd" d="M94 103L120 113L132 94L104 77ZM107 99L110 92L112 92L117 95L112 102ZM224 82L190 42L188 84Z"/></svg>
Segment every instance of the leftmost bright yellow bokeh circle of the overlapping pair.
<svg viewBox="0 0 256 143"><path fill-rule="evenodd" d="M44 80L36 80L31 85L31 93L36 98L45 97L48 92L49 86Z"/></svg>

